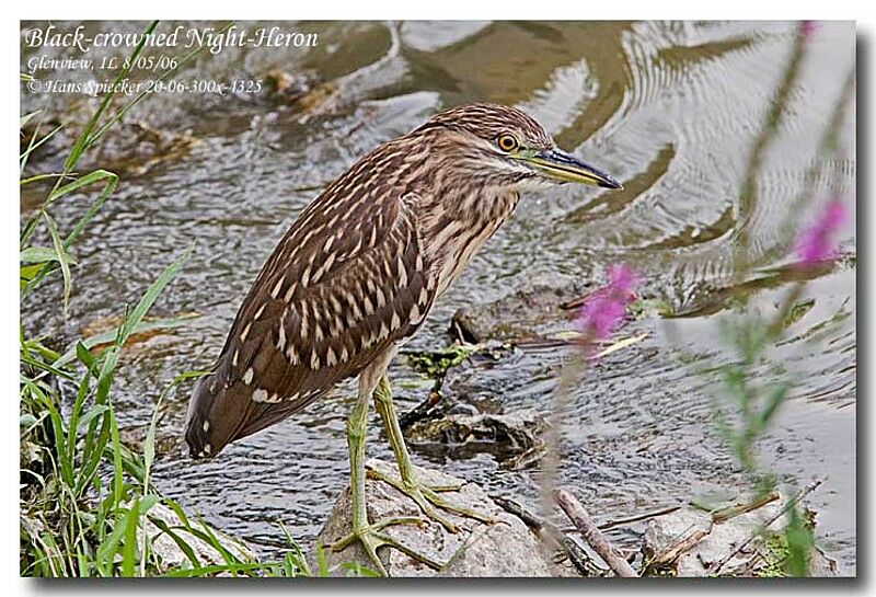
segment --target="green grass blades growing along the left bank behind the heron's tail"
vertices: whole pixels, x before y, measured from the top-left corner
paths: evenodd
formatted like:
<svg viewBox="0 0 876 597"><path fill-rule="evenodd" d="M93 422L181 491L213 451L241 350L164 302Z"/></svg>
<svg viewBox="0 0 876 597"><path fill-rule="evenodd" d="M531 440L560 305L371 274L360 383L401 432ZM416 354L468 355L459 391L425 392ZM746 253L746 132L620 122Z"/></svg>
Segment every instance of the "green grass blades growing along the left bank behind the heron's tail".
<svg viewBox="0 0 876 597"><path fill-rule="evenodd" d="M151 23L147 33L155 26L157 23ZM142 48L141 42L132 51L130 64ZM118 78L127 74L128 69L122 69ZM77 173L77 164L83 153L147 93L113 114L107 113L112 94L106 95L72 145L61 173L24 176L34 150L64 125L41 136L42 123L37 122L30 140L22 143L21 187L54 181L45 200L22 226L22 298L43 280L59 276L62 282L60 309L67 317L77 263L70 250L118 183L118 176L106 170ZM22 116L21 127L39 116L38 112ZM61 230L51 215L53 206L70 195L88 193L95 193L89 208L69 230ZM35 241L38 237L44 239L42 244ZM285 558L279 562L260 562L233 539L199 518L193 520L178 504L155 490L150 473L155 458L159 407L172 389L199 374L183 374L161 392L141 451L131 450L119 439L112 391L119 356L132 335L154 325L145 318L181 271L191 251L189 246L166 264L136 305L119 308L118 324L103 334L100 342L78 340L68 349L58 352L57 343L50 338L27 335L23 309L20 324L22 576L311 574L288 532L290 549ZM175 546L174 550L166 549L169 542Z"/></svg>

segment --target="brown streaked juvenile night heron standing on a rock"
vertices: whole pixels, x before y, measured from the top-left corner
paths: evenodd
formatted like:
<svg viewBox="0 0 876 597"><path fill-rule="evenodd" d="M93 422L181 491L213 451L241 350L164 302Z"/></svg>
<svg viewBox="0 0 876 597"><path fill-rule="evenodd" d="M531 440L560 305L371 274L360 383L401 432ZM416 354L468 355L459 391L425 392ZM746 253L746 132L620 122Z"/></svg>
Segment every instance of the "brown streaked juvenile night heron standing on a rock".
<svg viewBox="0 0 876 597"><path fill-rule="evenodd" d="M387 482L449 530L437 508L482 519L420 483L392 404L387 368L435 300L510 216L523 191L566 182L620 188L557 149L519 110L475 104L433 116L359 159L287 230L243 301L212 372L192 395L186 441L193 457L300 411L359 376L347 420L353 532L385 574L377 549L391 546L436 565L369 523L365 428L373 397L400 477ZM372 471L377 472L377 471Z"/></svg>

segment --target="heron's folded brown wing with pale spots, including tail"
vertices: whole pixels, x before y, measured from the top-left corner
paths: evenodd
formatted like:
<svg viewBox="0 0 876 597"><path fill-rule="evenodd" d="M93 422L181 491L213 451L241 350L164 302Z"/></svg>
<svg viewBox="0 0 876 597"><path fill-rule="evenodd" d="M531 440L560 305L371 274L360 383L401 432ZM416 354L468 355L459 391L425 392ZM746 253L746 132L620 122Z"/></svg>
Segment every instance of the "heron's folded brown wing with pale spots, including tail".
<svg viewBox="0 0 876 597"><path fill-rule="evenodd" d="M328 191L267 260L212 375L196 386L186 428L194 456L216 454L357 375L430 309L436 284L405 200L328 205L325 197L337 196Z"/></svg>

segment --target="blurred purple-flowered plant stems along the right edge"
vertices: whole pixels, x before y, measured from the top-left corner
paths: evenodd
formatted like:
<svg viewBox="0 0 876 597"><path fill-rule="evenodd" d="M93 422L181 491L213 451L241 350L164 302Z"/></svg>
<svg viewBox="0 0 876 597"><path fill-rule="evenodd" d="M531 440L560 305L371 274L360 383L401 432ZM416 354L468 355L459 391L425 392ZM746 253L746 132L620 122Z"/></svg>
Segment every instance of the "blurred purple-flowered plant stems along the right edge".
<svg viewBox="0 0 876 597"><path fill-rule="evenodd" d="M804 21L797 26L792 56L773 97L762 135L751 152L751 172L759 172L765 147L779 130L789 90L794 89L799 78L806 45L817 30L818 24L810 21ZM838 129L854 96L853 90L854 72L850 73L843 84L819 146L821 163L830 163L839 152ZM798 228L797 215L811 203L816 194L815 182L818 174L816 167L807 174L805 190L788 214L785 231ZM753 176L751 174L744 184L740 197L742 205L753 205L756 187ZM844 205L840 199L833 198L821 206L814 221L797 234L793 241L797 261L792 269L796 271L797 277L802 280L795 282L785 291L772 317L745 312L723 318L718 322L719 336L731 352L731 359L718 367L722 391L714 397L714 421L719 435L731 447L736 460L759 495L774 491L779 479L775 471L764 469L759 461L758 440L775 422L795 382L785 371L784 364L770 363L768 352L783 340L786 328L793 323L794 310L804 295L806 280L814 277L819 268L830 266L837 257L833 237L845 217ZM740 233L737 252L737 255L741 256L737 272L739 277L752 272L749 251L748 236ZM802 496L803 492L796 492L795 495ZM805 509L798 502L799 500L795 498L788 501L785 526L779 536L786 549L781 572L789 576L809 574L809 555L815 546L812 525L807 520ZM761 530L763 535L770 532L766 528ZM714 566L712 572L717 574L721 565L723 563Z"/></svg>

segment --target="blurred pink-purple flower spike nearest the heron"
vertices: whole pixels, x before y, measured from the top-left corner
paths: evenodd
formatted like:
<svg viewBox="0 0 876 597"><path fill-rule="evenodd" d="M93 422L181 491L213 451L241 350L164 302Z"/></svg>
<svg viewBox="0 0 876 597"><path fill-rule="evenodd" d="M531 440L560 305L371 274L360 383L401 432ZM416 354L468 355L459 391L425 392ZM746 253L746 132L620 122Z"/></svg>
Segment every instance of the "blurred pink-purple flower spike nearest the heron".
<svg viewBox="0 0 876 597"><path fill-rule="evenodd" d="M606 340L623 321L626 306L635 295L638 276L627 265L609 267L609 283L581 305L576 318L577 328L589 343Z"/></svg>

